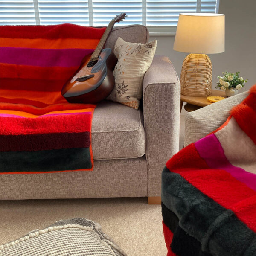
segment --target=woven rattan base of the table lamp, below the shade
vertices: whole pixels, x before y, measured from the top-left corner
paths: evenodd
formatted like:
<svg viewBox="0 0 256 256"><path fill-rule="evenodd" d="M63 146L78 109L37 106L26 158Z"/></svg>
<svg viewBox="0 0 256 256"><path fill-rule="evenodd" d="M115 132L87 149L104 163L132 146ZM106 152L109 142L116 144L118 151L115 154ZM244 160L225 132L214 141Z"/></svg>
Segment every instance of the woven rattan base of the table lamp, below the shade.
<svg viewBox="0 0 256 256"><path fill-rule="evenodd" d="M212 63L206 54L189 54L180 73L181 94L207 96L212 92Z"/></svg>

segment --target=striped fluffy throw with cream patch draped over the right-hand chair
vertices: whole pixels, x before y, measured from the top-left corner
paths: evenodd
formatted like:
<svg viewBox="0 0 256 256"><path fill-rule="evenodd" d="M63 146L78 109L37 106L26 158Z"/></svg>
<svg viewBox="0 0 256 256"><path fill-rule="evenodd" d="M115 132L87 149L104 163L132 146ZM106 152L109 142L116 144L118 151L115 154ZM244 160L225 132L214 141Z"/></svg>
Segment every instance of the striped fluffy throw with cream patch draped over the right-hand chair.
<svg viewBox="0 0 256 256"><path fill-rule="evenodd" d="M256 255L256 85L162 174L168 256Z"/></svg>

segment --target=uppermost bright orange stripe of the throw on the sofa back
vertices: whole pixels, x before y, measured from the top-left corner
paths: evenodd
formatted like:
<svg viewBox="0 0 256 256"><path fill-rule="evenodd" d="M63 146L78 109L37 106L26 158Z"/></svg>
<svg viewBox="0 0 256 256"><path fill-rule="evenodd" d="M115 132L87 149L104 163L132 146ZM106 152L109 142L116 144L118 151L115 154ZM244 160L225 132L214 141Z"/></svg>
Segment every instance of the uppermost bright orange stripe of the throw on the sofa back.
<svg viewBox="0 0 256 256"><path fill-rule="evenodd" d="M36 49L95 49L99 39L73 39L73 38L58 38L58 39L43 39L43 38L0 38L1 47L26 47Z"/></svg>

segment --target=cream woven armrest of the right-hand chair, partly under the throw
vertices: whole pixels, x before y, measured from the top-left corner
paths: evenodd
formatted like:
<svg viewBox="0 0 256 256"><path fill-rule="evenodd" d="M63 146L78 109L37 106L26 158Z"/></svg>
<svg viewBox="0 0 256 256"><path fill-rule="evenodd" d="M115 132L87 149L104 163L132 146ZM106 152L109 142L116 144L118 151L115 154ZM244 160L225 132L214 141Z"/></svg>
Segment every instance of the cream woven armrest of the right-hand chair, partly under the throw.
<svg viewBox="0 0 256 256"><path fill-rule="evenodd" d="M184 146L193 143L215 131L227 120L230 110L241 103L248 92L221 100L214 104L192 111L185 116Z"/></svg>

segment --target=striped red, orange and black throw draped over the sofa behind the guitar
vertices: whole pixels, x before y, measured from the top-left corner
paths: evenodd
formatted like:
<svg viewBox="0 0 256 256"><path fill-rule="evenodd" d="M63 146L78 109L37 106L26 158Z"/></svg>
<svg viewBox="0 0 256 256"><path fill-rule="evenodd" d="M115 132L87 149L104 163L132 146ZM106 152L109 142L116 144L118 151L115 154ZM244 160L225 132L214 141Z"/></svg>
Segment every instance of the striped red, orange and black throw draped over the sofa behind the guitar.
<svg viewBox="0 0 256 256"><path fill-rule="evenodd" d="M95 105L70 104L61 88L105 28L0 27L0 173L92 170Z"/></svg>

